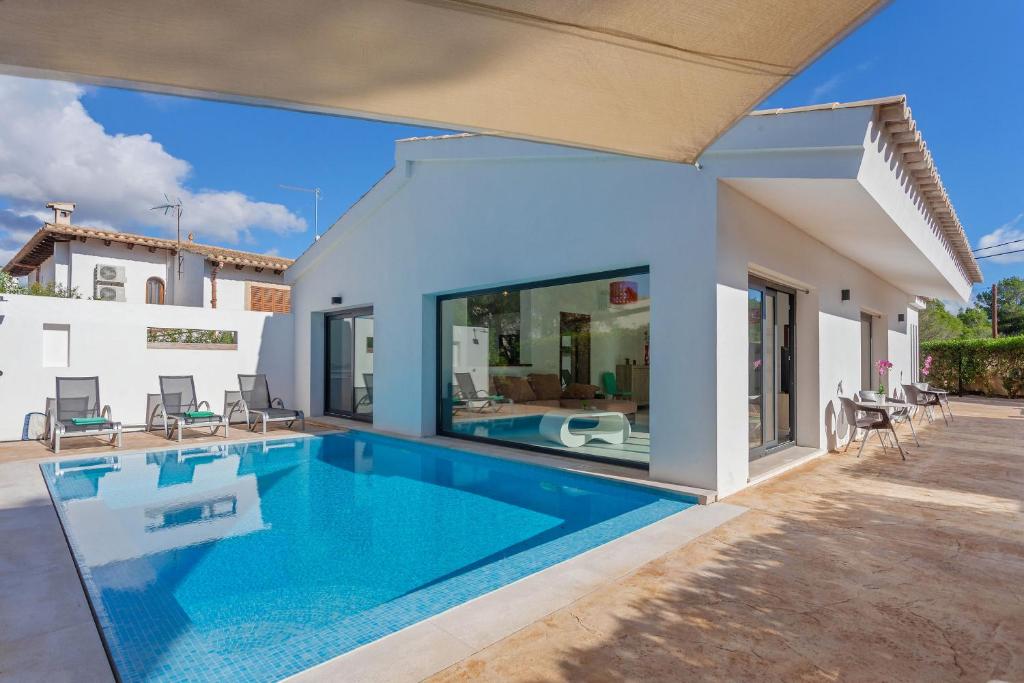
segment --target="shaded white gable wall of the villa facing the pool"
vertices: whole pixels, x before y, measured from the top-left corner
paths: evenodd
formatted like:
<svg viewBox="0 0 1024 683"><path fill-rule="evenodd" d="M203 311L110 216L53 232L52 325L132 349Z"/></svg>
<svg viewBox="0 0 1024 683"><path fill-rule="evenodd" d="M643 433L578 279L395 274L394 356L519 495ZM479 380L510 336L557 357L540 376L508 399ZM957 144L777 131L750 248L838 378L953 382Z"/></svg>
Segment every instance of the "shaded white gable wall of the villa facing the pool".
<svg viewBox="0 0 1024 683"><path fill-rule="evenodd" d="M465 143L494 159L445 159ZM440 158L409 161L421 144ZM435 295L644 265L654 372L714 387L715 190L674 164L499 138L402 143L396 170L288 271L300 404L323 411L332 296L374 306L375 424L422 435L435 431ZM651 386L651 469L714 487L715 405L683 393Z"/></svg>

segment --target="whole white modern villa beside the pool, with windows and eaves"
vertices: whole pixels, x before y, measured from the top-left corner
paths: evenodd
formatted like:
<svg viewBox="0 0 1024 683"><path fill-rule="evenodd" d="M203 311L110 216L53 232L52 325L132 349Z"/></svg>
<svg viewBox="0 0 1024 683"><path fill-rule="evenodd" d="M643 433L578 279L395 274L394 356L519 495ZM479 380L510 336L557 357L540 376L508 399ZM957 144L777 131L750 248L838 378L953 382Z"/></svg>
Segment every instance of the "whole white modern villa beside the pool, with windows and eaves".
<svg viewBox="0 0 1024 683"><path fill-rule="evenodd" d="M889 97L755 113L697 165L401 140L286 281L309 415L727 495L850 438L838 398L916 380L921 297L981 272Z"/></svg>

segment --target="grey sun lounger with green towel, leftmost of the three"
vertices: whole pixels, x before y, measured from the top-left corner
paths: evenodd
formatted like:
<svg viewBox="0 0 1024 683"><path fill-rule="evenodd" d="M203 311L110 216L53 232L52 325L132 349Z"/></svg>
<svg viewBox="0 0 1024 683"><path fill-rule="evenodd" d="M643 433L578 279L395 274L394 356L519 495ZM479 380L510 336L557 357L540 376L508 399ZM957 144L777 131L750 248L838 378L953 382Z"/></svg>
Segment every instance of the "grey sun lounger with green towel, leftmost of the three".
<svg viewBox="0 0 1024 683"><path fill-rule="evenodd" d="M110 436L111 445L124 445L121 423L113 420L110 405L100 408L98 377L58 377L56 381L49 414L53 453L60 453L60 439L69 436Z"/></svg>

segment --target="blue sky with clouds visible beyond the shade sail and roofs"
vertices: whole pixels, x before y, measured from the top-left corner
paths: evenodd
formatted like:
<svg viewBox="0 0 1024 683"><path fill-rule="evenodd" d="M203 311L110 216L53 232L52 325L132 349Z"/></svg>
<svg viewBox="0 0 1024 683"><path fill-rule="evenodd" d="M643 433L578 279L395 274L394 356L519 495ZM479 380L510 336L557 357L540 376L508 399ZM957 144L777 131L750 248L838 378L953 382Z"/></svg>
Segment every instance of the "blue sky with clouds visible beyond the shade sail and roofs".
<svg viewBox="0 0 1024 683"><path fill-rule="evenodd" d="M982 244L984 236L988 244L1024 238L1022 30L1024 3L1016 0L896 0L762 106L905 93L972 243ZM0 161L5 143L19 159L40 159L38 167L24 170L22 182L0 183L4 261L38 226L40 197L78 202L79 223L157 234L170 229L170 219L147 208L165 191L183 195L184 229L200 241L296 256L312 237L312 200L280 183L323 188L323 230L387 172L395 139L438 132L5 81L0 104L7 123L23 113L29 133L38 134L22 136L45 138L49 147L11 150L17 140L0 133ZM61 134L47 134L46 126ZM67 145L93 155L95 172L61 176L52 162L44 163L47 155L59 159ZM116 180L102 170L112 167L121 169ZM1001 260L1010 262L982 261L986 281L1024 272L1024 253Z"/></svg>

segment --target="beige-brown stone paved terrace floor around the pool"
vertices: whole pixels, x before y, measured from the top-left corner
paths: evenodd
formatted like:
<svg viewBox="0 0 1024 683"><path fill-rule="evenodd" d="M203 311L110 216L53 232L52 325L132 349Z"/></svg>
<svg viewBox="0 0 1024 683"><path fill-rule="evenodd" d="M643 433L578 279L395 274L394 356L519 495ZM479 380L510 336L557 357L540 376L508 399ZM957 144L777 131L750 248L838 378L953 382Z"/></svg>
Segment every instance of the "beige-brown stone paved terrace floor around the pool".
<svg viewBox="0 0 1024 683"><path fill-rule="evenodd" d="M876 441L726 499L749 511L433 680L1024 681L1024 401L953 410L906 463ZM45 488L9 478L50 457L0 444L0 681L110 680Z"/></svg>

